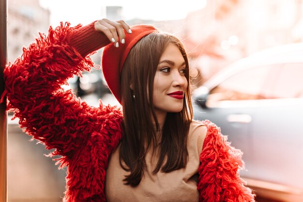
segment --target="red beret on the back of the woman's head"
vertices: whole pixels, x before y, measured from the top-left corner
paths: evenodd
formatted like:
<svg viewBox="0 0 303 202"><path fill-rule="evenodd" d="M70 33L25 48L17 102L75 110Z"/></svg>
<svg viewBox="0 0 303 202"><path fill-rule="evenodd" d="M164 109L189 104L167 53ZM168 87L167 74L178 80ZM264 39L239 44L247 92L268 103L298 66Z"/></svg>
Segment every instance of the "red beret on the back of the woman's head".
<svg viewBox="0 0 303 202"><path fill-rule="evenodd" d="M110 91L121 103L121 72L129 51L144 36L157 31L153 26L136 25L131 27L132 33L125 33L125 43L115 47L110 43L104 48L102 56L103 75ZM125 32L125 31L124 31Z"/></svg>

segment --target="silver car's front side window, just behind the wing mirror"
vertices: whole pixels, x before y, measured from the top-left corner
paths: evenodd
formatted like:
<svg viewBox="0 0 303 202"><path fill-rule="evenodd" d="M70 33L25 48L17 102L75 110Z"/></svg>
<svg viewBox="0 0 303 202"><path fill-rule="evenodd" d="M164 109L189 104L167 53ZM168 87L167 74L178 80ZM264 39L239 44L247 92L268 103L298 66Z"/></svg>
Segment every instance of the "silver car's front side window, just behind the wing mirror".
<svg viewBox="0 0 303 202"><path fill-rule="evenodd" d="M259 66L239 72L217 85L210 92L208 103L221 100L264 99L263 89L271 88L272 67Z"/></svg>

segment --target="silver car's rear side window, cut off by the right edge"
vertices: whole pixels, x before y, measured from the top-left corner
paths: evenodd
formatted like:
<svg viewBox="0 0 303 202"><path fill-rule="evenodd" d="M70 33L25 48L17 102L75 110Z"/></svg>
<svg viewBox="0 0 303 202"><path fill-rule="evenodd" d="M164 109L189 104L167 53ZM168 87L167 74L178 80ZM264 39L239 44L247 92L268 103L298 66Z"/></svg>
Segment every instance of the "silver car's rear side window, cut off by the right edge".
<svg viewBox="0 0 303 202"><path fill-rule="evenodd" d="M282 64L273 81L273 88L266 93L269 98L303 97L303 63Z"/></svg>

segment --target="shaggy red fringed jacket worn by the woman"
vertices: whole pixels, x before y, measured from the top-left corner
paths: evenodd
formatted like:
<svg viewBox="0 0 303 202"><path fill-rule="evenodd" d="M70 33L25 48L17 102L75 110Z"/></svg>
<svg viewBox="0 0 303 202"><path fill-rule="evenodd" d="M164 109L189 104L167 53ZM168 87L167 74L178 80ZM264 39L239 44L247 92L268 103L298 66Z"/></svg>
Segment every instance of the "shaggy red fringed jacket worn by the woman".
<svg viewBox="0 0 303 202"><path fill-rule="evenodd" d="M68 23L53 29L23 49L23 55L4 69L9 100L19 124L33 139L55 149L50 156L67 166L63 202L106 202L105 175L108 158L123 138L123 116L117 107L88 106L61 84L93 66L86 52L107 43L83 49L76 33L92 34L92 27L70 28ZM105 36L103 36L105 37ZM80 46L80 47L79 47ZM81 53L77 51L79 48ZM241 152L232 148L220 129L209 121L200 155L197 188L201 202L253 202L251 190L239 176ZM119 190L117 190L119 191Z"/></svg>

